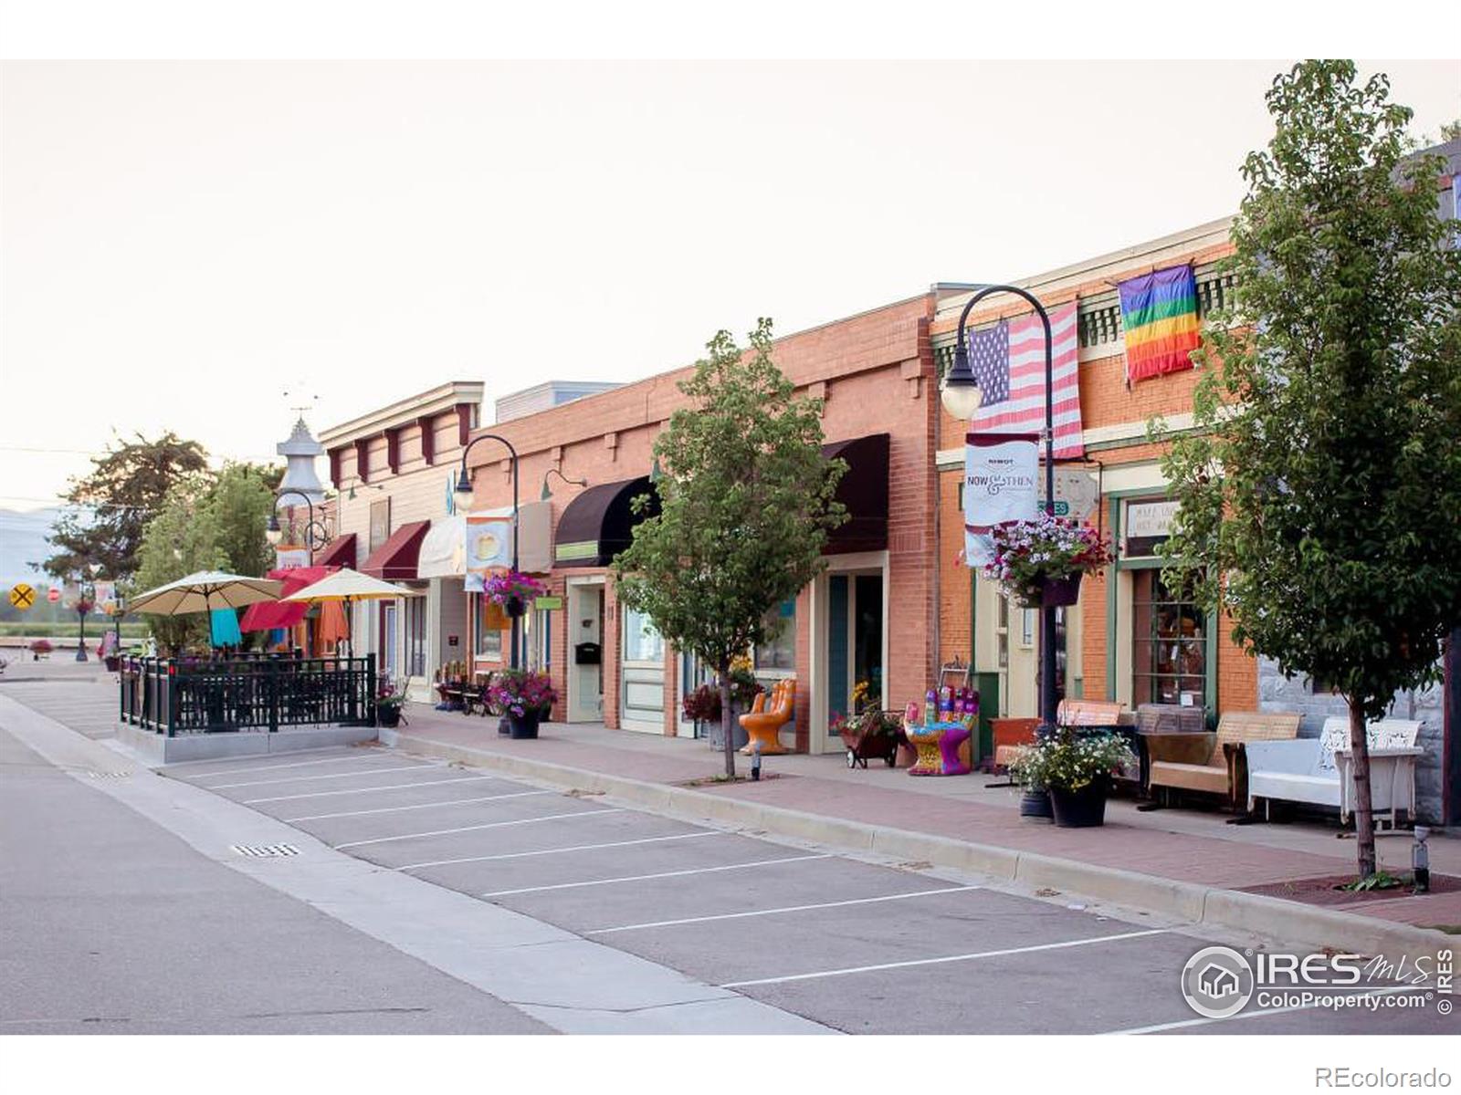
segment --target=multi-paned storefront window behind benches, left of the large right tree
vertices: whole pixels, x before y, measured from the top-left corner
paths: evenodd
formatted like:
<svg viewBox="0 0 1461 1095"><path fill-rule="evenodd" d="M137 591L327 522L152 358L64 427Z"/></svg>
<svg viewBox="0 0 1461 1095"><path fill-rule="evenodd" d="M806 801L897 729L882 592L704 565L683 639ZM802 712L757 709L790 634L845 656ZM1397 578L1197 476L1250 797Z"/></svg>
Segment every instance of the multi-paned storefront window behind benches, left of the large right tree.
<svg viewBox="0 0 1461 1095"><path fill-rule="evenodd" d="M1134 578L1135 702L1204 707L1207 613L1169 588L1159 569L1135 571Z"/></svg>

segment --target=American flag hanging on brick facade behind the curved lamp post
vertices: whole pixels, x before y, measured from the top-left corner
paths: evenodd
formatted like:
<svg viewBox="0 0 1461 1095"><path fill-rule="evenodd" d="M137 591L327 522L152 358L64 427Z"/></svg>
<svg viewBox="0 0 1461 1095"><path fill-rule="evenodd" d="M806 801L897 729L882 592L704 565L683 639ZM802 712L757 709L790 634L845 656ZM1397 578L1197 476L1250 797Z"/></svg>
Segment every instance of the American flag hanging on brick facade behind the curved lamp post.
<svg viewBox="0 0 1461 1095"><path fill-rule="evenodd" d="M1074 302L1050 311L1055 372L1055 456L1081 457L1081 393ZM1012 323L969 331L969 365L983 393L970 426L976 432L1027 434L1045 429L1045 327L1034 312Z"/></svg>

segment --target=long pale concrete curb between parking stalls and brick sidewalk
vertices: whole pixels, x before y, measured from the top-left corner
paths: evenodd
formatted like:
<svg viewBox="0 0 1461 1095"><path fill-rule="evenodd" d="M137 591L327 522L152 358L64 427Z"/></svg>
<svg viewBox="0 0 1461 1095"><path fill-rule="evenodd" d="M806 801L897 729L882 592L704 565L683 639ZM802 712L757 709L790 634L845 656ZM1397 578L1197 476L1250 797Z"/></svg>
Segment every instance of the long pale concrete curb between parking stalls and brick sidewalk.
<svg viewBox="0 0 1461 1095"><path fill-rule="evenodd" d="M785 806L764 806L741 799L706 794L690 787L630 780L584 768L504 756L418 734L381 730L380 740L443 761L456 761L506 775L520 775L564 788L600 791L650 810L698 821L714 821L779 837L805 840L849 851L871 851L904 860L926 860L938 867L989 875L1005 882L1049 886L1112 904L1283 940L1315 950L1331 948L1344 953L1384 955L1395 961L1435 955L1457 940L1443 931L1391 923L1337 910L1302 905L1259 894L1178 882L1156 875L1102 867L1078 860L974 844L909 829L890 829L844 818L827 818Z"/></svg>

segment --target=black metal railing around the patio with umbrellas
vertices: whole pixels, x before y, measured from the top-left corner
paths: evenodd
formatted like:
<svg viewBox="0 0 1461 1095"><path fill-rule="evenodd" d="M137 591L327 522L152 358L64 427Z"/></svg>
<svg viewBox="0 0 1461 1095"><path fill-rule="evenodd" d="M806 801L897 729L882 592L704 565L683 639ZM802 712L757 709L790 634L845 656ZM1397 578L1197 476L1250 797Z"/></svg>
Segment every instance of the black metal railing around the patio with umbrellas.
<svg viewBox="0 0 1461 1095"><path fill-rule="evenodd" d="M177 734L373 726L374 658L127 658L121 721Z"/></svg>

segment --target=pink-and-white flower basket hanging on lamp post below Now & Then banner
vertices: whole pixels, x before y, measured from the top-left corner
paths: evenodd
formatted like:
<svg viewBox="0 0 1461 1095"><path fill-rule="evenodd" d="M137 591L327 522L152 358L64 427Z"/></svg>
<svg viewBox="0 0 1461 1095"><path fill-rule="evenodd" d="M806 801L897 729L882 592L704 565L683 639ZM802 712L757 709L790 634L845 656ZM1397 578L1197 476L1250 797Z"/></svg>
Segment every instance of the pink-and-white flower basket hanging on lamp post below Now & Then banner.
<svg viewBox="0 0 1461 1095"><path fill-rule="evenodd" d="M1074 604L1081 578L1110 562L1100 533L1080 521L1040 514L1033 521L996 526L995 558L985 577L1027 609Z"/></svg>

